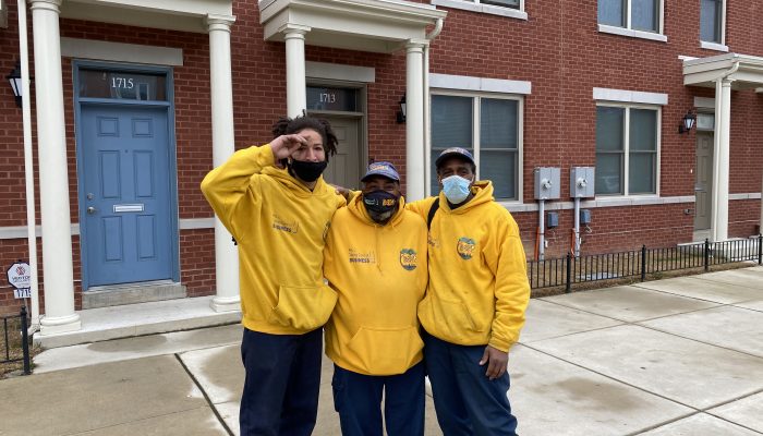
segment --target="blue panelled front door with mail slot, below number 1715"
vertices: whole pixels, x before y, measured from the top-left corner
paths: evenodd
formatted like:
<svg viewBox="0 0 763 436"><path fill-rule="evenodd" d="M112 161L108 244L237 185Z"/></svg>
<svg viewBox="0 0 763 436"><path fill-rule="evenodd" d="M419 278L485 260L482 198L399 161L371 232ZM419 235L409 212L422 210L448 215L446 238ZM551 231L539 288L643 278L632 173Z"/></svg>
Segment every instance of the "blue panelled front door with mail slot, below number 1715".
<svg viewBox="0 0 763 436"><path fill-rule="evenodd" d="M167 108L83 105L86 287L172 278Z"/></svg>

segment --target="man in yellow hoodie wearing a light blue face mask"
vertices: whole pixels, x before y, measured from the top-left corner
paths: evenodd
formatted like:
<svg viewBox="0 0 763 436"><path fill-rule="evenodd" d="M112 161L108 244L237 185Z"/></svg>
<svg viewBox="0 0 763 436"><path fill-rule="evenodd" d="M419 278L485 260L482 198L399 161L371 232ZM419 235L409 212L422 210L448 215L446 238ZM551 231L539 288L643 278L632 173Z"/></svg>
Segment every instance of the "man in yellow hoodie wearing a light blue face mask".
<svg viewBox="0 0 763 436"><path fill-rule="evenodd" d="M474 181L467 149L444 150L435 166L439 196L408 207L429 227L419 319L437 421L446 436L516 435L508 351L530 299L519 228L494 201L492 183Z"/></svg>

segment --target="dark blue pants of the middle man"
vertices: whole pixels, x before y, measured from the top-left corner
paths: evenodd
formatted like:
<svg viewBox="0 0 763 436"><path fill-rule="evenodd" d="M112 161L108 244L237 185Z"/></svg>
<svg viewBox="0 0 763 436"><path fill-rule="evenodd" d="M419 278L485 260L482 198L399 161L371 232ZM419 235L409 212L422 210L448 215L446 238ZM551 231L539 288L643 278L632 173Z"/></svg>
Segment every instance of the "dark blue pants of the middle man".
<svg viewBox="0 0 763 436"><path fill-rule="evenodd" d="M342 436L382 436L382 392L387 435L424 434L423 363L403 374L385 376L358 374L334 365L331 386Z"/></svg>

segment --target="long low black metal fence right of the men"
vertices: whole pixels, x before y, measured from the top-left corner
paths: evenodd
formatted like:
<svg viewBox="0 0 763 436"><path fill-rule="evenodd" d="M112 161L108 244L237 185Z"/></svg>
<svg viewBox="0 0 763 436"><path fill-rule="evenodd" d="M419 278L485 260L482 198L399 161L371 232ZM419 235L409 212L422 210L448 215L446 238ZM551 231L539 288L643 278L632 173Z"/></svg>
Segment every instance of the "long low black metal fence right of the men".
<svg viewBox="0 0 763 436"><path fill-rule="evenodd" d="M647 249L628 252L594 254L528 262L532 289L564 287L566 292L576 283L640 277L655 272L703 268L713 265L753 261L763 263L763 237L699 242L667 249Z"/></svg>

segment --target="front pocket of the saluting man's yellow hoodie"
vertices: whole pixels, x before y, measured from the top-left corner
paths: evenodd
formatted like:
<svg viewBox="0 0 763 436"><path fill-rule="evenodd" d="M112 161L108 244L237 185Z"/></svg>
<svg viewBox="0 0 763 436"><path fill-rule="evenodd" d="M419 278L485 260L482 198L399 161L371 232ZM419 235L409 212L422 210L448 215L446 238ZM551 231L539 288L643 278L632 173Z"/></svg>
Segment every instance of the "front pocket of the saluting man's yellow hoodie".
<svg viewBox="0 0 763 436"><path fill-rule="evenodd" d="M282 286L268 322L298 330L314 330L326 324L335 304L337 292L327 286Z"/></svg>

